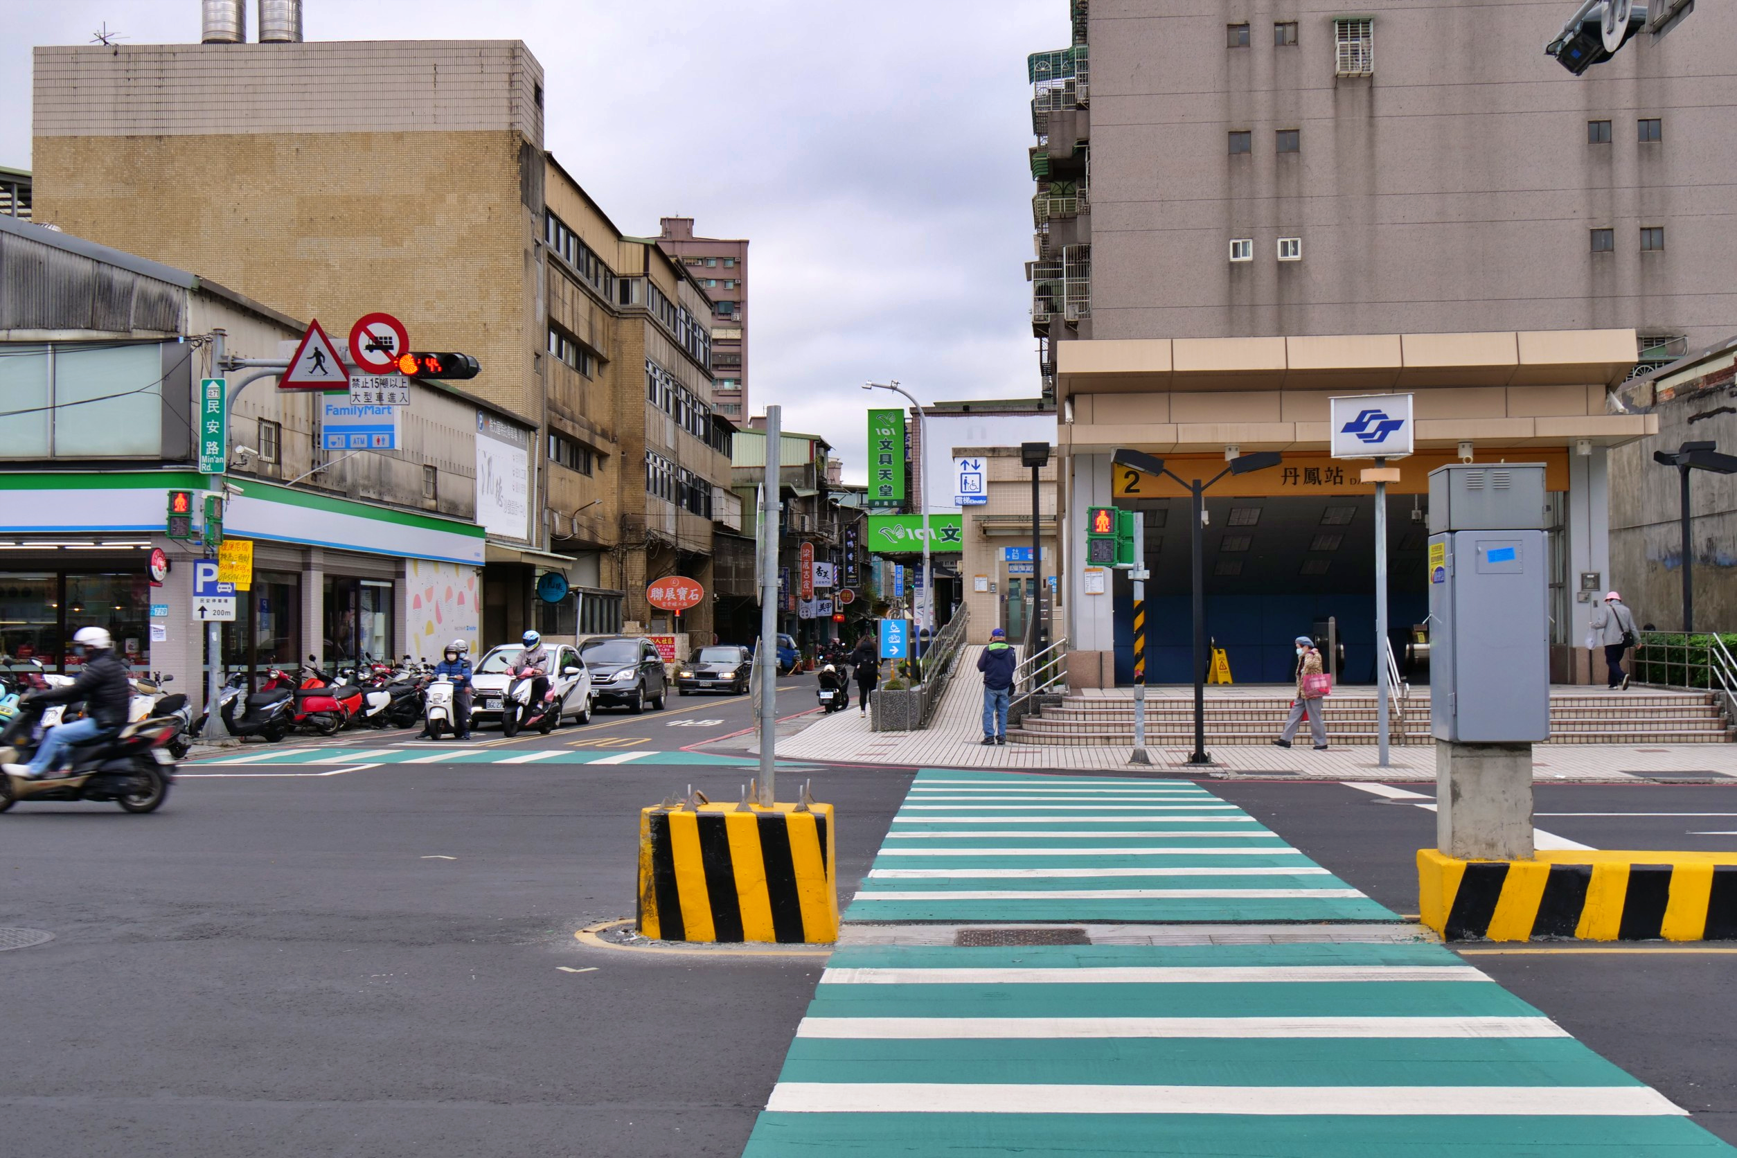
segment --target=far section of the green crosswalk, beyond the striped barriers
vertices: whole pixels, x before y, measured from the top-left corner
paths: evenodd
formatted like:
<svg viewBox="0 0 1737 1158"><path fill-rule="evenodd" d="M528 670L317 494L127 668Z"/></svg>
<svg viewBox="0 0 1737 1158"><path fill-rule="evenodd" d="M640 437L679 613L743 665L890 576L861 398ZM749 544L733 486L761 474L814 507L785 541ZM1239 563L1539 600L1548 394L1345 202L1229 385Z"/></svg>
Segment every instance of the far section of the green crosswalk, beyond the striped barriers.
<svg viewBox="0 0 1737 1158"><path fill-rule="evenodd" d="M844 920L1398 917L1193 783L926 771Z"/></svg>

